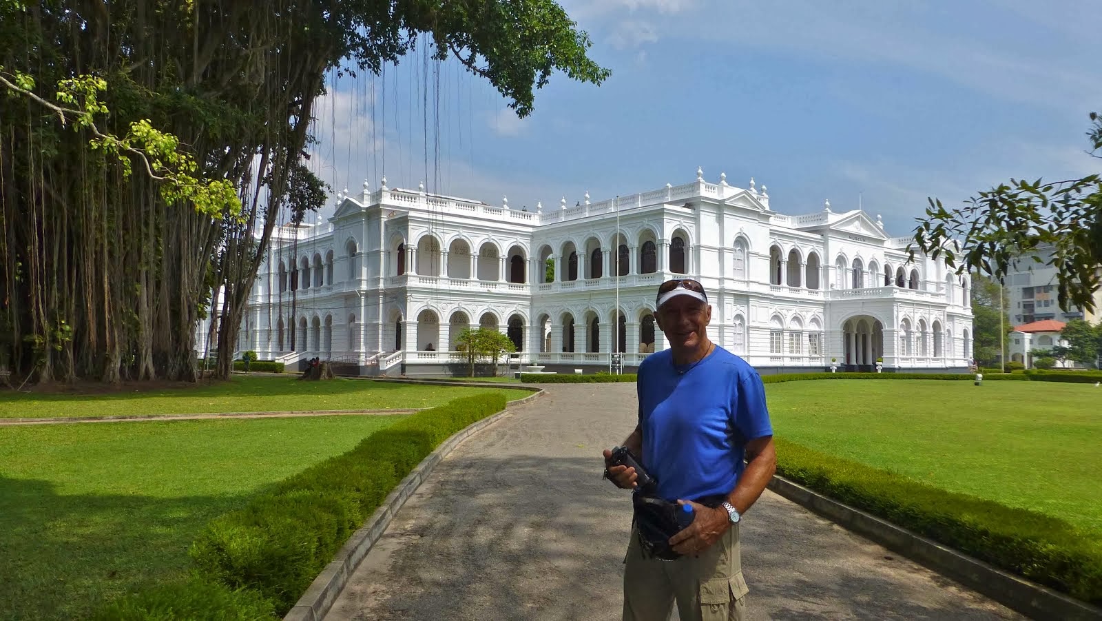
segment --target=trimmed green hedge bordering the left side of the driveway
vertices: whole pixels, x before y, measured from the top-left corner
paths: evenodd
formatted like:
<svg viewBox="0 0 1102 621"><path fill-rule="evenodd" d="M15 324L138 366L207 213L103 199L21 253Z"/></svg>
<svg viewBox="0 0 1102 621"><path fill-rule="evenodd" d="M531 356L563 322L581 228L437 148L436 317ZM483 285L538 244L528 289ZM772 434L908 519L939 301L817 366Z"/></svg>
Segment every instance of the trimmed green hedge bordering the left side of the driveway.
<svg viewBox="0 0 1102 621"><path fill-rule="evenodd" d="M282 617L402 478L449 437L505 406L504 395L490 393L424 409L283 480L245 508L207 524L190 550L199 580L123 598L105 614L126 610L127 619L268 619L247 615L256 601L266 601ZM223 598L196 615L163 612L165 597L160 593L198 600L208 582L251 599Z"/></svg>

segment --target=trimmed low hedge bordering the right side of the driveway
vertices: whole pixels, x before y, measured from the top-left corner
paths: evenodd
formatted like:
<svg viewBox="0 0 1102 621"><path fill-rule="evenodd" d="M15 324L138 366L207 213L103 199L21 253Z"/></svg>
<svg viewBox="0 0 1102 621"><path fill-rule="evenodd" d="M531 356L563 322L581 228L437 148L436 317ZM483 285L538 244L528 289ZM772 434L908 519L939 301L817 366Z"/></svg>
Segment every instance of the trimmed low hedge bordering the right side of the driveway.
<svg viewBox="0 0 1102 621"><path fill-rule="evenodd" d="M1055 517L777 443L777 473L1020 576L1102 603L1102 544Z"/></svg>

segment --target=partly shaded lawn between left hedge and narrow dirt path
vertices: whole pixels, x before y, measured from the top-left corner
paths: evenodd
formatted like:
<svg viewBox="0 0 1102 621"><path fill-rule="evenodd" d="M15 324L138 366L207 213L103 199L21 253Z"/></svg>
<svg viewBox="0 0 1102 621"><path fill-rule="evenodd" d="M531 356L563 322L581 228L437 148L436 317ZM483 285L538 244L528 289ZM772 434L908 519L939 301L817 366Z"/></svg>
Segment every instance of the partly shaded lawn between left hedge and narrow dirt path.
<svg viewBox="0 0 1102 621"><path fill-rule="evenodd" d="M212 518L401 416L0 428L0 619L78 619L179 576Z"/></svg>

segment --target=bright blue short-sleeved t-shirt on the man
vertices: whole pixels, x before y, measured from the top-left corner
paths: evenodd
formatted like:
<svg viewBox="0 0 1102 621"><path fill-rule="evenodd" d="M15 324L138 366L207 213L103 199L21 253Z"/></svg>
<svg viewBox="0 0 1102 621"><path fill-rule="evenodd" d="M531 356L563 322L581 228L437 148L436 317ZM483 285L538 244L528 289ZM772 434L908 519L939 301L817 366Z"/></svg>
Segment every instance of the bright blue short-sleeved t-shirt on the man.
<svg viewBox="0 0 1102 621"><path fill-rule="evenodd" d="M670 350L639 365L642 465L669 501L727 494L743 472L746 442L773 436L761 377L719 345L680 370Z"/></svg>

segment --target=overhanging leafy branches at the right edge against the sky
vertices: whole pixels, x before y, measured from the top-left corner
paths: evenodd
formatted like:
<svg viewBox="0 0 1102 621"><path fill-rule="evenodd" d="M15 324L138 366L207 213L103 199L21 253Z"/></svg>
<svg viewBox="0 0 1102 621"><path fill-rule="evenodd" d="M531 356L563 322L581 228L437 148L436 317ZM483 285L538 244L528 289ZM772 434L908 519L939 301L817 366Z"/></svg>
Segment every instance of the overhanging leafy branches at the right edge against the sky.
<svg viewBox="0 0 1102 621"><path fill-rule="evenodd" d="M1090 152L1099 157L1102 115L1091 113L1090 121ZM915 229L912 256L917 247L934 258L943 255L960 272L982 271L998 280L1026 257L1057 268L1061 309L1094 309L1102 280L1102 175L1012 179L960 207L946 207L936 199L929 203L926 220Z"/></svg>

